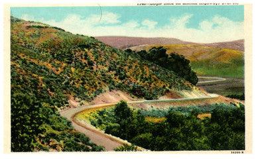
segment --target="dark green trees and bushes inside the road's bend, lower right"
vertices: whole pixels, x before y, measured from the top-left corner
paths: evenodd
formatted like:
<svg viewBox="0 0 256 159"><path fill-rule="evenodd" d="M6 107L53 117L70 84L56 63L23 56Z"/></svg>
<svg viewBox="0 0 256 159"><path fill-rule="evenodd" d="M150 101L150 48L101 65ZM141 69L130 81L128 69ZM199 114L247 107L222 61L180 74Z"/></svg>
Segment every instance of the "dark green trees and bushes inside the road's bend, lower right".
<svg viewBox="0 0 256 159"><path fill-rule="evenodd" d="M188 110L186 110L188 109ZM216 104L204 107L171 107L163 113L153 109L143 113L131 109L123 101L115 109L106 112L111 123L105 132L119 136L149 150L244 150L245 112L244 106ZM121 112L120 112L121 111ZM152 113L153 112L153 113ZM198 113L210 112L211 118L198 119ZM127 116L125 116L127 114ZM164 115L160 123L145 121L144 115ZM125 150L125 148L123 148Z"/></svg>

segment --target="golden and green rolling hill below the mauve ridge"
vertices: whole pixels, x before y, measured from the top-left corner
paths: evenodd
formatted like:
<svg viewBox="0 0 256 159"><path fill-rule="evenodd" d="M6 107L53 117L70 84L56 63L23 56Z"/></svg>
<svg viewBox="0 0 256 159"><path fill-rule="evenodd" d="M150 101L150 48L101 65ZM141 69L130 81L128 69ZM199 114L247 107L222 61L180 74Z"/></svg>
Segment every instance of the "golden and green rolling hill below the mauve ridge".
<svg viewBox="0 0 256 159"><path fill-rule="evenodd" d="M191 61L192 68L199 75L243 78L243 52L216 46L200 44L153 44L133 46L131 50L149 50L163 46L167 53L176 52Z"/></svg>

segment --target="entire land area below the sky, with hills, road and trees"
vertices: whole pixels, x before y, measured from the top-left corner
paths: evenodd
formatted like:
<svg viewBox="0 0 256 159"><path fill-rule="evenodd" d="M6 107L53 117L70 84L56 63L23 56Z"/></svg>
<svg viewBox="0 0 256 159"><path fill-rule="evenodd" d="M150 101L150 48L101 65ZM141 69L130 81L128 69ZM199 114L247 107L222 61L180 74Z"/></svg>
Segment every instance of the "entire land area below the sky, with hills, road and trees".
<svg viewBox="0 0 256 159"><path fill-rule="evenodd" d="M97 39L11 17L13 152L244 149L241 41Z"/></svg>

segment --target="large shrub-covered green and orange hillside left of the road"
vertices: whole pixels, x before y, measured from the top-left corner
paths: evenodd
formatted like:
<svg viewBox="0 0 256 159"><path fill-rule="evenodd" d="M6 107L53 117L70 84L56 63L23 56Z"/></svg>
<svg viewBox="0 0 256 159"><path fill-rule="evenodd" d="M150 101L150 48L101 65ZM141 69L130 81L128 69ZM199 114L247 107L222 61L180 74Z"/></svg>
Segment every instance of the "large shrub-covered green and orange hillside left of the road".
<svg viewBox="0 0 256 159"><path fill-rule="evenodd" d="M42 23L11 17L11 150L99 151L58 109L119 89L145 99L192 89L136 54Z"/></svg>

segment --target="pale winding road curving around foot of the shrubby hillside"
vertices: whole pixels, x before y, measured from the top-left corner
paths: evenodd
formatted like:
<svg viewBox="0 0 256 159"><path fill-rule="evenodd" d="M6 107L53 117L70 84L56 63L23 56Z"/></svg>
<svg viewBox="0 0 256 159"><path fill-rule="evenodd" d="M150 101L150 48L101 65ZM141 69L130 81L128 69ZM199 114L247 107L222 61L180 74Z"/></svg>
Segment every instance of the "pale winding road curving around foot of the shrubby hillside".
<svg viewBox="0 0 256 159"><path fill-rule="evenodd" d="M189 101L193 99L212 99L219 97L217 94L209 94L206 97L191 97L191 98L180 98L180 99L158 99L158 100L142 100L142 101L128 101L127 103L155 103L155 102L172 102L172 101ZM117 103L106 103L106 104L99 104L99 105L83 105L81 107L73 107L67 108L60 111L60 115L62 117L66 117L69 121L72 122L72 125L76 131L82 132L86 134L94 142L99 146L105 147L107 151L113 151L114 148L123 145L124 143L129 143L126 140L122 140L121 138L117 138L115 136L111 136L109 134L105 134L103 131L100 131L90 125L89 123L81 123L76 121L74 117L76 114L84 111L86 109L96 108L96 107L107 107L111 105L116 105Z"/></svg>

